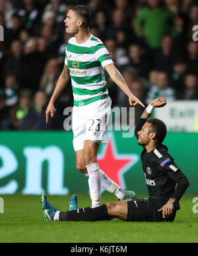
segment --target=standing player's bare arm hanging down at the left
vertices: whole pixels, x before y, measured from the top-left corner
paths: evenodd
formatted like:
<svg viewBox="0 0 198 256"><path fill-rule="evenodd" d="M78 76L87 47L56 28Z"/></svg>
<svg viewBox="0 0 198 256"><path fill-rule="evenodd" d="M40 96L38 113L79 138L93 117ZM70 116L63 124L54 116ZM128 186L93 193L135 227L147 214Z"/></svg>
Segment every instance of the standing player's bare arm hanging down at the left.
<svg viewBox="0 0 198 256"><path fill-rule="evenodd" d="M51 116L51 118L54 116L54 114L55 114L54 103L55 103L57 97L59 97L59 95L61 94L61 91L63 91L63 89L67 85L69 79L70 79L69 68L67 67L67 65L64 65L63 71L61 72L61 75L59 76L59 79L57 80L57 84L55 85L53 95L51 96L48 107L46 109L46 124L48 123L49 115Z"/></svg>

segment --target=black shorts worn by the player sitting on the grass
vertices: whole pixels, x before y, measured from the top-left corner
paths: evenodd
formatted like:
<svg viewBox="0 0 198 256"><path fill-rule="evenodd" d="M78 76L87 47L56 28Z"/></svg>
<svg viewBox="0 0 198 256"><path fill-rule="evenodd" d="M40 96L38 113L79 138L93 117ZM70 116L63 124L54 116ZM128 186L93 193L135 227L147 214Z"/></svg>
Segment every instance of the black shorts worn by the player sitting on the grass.
<svg viewBox="0 0 198 256"><path fill-rule="evenodd" d="M176 217L176 211L174 211L169 218L162 218L162 212L158 212L156 206L149 199L133 199L129 200L127 204L127 222L173 222Z"/></svg>

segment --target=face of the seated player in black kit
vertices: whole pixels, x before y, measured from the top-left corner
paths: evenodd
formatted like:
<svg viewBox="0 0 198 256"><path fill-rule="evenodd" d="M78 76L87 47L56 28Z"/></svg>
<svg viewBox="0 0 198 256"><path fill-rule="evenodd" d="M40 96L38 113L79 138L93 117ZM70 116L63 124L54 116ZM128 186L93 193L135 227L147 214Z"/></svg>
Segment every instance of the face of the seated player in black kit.
<svg viewBox="0 0 198 256"><path fill-rule="evenodd" d="M151 124L149 122L145 122L142 129L137 133L139 135L138 144L146 146L150 143L153 137L153 132L150 129Z"/></svg>

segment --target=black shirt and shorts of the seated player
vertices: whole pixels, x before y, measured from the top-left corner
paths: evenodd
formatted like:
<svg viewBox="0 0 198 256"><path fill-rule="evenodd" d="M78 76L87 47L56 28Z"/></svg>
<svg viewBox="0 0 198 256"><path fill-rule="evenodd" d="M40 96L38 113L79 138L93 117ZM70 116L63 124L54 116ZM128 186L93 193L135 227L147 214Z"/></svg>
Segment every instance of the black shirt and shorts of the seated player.
<svg viewBox="0 0 198 256"><path fill-rule="evenodd" d="M135 136L147 122L146 118L140 118L135 128ZM176 198L174 213L166 221L173 221L176 211L180 209L179 200L189 186L189 182L174 158L168 153L168 148L159 144L155 149L147 153L144 147L141 153L141 161L145 175L145 181L149 190L149 199L134 199L128 202L128 221L164 221L162 208L170 198Z"/></svg>

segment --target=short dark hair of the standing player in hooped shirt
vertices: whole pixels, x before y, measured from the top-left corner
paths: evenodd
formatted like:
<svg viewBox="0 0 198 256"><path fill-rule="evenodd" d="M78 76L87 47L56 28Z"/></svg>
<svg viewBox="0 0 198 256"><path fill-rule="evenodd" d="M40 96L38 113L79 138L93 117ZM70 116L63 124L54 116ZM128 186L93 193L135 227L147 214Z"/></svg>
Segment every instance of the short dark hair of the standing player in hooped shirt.
<svg viewBox="0 0 198 256"><path fill-rule="evenodd" d="M79 16L82 17L84 26L90 26L90 22L92 20L92 9L86 5L74 5L70 7L71 11L75 11Z"/></svg>

